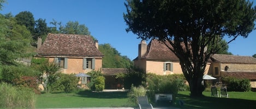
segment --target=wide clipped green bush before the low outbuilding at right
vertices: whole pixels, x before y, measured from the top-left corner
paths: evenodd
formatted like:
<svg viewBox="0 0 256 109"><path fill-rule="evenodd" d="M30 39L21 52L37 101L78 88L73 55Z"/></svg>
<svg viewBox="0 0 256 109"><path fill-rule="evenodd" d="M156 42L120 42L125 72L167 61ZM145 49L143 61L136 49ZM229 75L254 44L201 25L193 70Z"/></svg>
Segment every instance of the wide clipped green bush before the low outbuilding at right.
<svg viewBox="0 0 256 109"><path fill-rule="evenodd" d="M223 84L227 85L228 91L247 92L251 90L249 79L239 79L233 77L222 78Z"/></svg>

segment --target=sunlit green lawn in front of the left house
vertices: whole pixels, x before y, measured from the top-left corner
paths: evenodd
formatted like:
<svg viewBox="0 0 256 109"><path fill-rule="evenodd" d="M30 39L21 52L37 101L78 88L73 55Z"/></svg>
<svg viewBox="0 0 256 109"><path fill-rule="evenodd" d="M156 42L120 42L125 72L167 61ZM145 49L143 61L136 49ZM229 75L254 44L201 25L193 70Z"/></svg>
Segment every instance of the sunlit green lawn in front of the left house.
<svg viewBox="0 0 256 109"><path fill-rule="evenodd" d="M38 95L35 108L128 107L127 92L81 91Z"/></svg>

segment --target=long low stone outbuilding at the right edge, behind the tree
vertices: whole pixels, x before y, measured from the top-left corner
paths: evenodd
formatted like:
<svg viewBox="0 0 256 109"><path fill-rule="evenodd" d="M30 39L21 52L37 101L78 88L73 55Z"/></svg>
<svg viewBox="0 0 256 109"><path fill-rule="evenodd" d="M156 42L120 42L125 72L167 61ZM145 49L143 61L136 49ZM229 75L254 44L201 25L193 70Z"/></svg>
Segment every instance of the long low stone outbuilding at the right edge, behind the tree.
<svg viewBox="0 0 256 109"><path fill-rule="evenodd" d="M225 76L246 78L251 80L251 87L256 88L256 58L252 56L214 54L211 60L208 74L219 79Z"/></svg>

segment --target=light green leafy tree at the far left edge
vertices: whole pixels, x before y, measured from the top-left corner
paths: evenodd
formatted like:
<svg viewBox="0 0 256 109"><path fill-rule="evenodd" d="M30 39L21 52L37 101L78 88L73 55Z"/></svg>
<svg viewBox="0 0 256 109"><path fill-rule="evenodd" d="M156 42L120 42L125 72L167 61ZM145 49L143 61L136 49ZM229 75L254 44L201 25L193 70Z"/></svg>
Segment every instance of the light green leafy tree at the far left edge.
<svg viewBox="0 0 256 109"><path fill-rule="evenodd" d="M17 57L28 56L31 42L30 31L17 24L15 18L0 14L0 64L15 65Z"/></svg>

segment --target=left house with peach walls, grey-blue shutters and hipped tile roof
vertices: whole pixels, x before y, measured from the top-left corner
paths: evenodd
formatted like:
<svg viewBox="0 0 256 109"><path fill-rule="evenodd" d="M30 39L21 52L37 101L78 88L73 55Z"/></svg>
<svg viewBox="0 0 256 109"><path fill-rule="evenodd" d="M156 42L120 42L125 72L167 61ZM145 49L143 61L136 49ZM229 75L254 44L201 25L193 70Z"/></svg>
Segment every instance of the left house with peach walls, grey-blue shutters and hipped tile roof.
<svg viewBox="0 0 256 109"><path fill-rule="evenodd" d="M94 42L91 36L50 33L42 45L40 38L38 42L34 57L56 62L62 73L87 73L102 68L104 55L98 50L98 41Z"/></svg>

